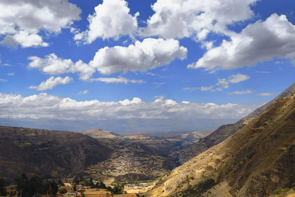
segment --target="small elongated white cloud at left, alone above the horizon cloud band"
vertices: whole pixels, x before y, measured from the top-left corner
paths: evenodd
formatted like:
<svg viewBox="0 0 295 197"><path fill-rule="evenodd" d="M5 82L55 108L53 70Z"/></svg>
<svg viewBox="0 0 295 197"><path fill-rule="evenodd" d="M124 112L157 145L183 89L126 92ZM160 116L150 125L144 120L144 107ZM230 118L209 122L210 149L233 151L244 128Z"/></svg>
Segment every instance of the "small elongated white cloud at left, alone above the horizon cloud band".
<svg viewBox="0 0 295 197"><path fill-rule="evenodd" d="M65 85L72 81L73 79L69 76L66 76L64 78L61 77L50 77L46 81L43 81L39 86L30 86L29 89L36 89L38 91L44 91L44 90L51 90L57 85Z"/></svg>

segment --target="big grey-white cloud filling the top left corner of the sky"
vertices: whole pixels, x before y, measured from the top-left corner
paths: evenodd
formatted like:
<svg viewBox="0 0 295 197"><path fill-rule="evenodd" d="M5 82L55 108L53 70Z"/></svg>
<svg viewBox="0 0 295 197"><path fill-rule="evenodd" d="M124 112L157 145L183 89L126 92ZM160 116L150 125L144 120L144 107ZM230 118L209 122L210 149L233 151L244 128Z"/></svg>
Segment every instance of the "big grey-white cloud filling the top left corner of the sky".
<svg viewBox="0 0 295 197"><path fill-rule="evenodd" d="M60 33L73 21L80 20L81 9L68 0L2 0L0 1L0 42L6 46L48 46L40 31Z"/></svg>

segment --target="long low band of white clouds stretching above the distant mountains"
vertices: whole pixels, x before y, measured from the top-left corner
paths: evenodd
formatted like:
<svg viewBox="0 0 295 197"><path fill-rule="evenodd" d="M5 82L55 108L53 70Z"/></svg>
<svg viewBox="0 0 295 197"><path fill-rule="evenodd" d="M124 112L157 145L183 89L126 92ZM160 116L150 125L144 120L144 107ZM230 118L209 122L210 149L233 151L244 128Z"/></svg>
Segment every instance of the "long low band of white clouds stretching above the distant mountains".
<svg viewBox="0 0 295 197"><path fill-rule="evenodd" d="M9 107L7 107L9 106ZM123 101L101 102L99 100L76 101L70 98L42 93L23 97L21 95L0 94L0 117L56 119L124 119L124 118L189 118L210 119L240 118L255 106L240 104L180 102L164 98L154 102L144 102L139 98Z"/></svg>

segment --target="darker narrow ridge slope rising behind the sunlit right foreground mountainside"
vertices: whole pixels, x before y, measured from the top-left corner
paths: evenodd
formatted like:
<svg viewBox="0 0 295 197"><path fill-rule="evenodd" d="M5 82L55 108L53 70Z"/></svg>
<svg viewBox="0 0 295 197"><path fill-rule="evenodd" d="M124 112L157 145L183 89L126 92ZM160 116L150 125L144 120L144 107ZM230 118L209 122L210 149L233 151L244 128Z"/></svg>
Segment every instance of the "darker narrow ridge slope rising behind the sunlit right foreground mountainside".
<svg viewBox="0 0 295 197"><path fill-rule="evenodd" d="M228 137L232 136L236 131L240 130L245 126L248 122L250 122L253 118L257 117L261 114L267 107L269 107L276 100L288 97L295 93L295 83L291 85L288 89L286 89L282 94L278 95L275 99L266 103L262 107L259 107L248 116L242 118L234 124L223 125L219 127L216 131L212 132L208 136L200 139L195 144L192 144L180 151L173 152L170 156L176 159L179 159L181 164L187 162L188 160L196 157L200 153L206 151L207 149L223 142Z"/></svg>

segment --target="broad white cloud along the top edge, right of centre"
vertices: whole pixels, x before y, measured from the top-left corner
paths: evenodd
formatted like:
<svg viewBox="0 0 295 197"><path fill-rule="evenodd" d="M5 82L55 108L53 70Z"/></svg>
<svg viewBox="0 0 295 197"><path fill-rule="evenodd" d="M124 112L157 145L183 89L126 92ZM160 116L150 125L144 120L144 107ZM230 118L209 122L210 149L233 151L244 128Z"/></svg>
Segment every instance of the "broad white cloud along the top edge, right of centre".
<svg viewBox="0 0 295 197"><path fill-rule="evenodd" d="M157 0L155 12L142 28L143 36L164 38L195 37L206 39L207 34L229 33L227 26L250 19L250 6L258 0Z"/></svg>

